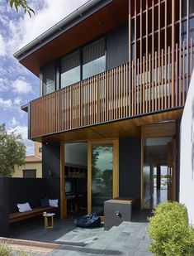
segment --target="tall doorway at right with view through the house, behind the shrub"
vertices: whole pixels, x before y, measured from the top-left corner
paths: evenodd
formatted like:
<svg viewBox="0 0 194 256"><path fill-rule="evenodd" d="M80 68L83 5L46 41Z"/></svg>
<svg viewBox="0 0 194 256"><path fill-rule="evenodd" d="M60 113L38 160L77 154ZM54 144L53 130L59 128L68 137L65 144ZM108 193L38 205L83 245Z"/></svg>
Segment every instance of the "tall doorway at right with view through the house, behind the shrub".
<svg viewBox="0 0 194 256"><path fill-rule="evenodd" d="M143 140L143 207L154 209L166 200L175 200L174 138Z"/></svg>

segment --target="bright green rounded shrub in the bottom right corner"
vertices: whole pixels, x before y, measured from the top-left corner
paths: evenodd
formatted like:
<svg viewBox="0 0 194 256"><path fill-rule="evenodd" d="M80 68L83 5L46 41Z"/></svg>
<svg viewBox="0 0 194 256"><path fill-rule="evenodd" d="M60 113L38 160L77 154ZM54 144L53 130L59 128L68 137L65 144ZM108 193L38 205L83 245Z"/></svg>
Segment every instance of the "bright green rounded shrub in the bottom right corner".
<svg viewBox="0 0 194 256"><path fill-rule="evenodd" d="M194 230L188 225L187 209L178 202L165 202L149 218L149 251L157 256L191 256Z"/></svg>

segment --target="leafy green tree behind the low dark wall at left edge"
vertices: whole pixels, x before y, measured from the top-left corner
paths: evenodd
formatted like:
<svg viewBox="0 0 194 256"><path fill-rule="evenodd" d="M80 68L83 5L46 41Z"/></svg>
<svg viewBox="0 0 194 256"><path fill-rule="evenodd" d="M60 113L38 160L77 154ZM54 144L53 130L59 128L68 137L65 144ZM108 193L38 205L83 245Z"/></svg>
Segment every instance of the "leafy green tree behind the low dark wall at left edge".
<svg viewBox="0 0 194 256"><path fill-rule="evenodd" d="M25 156L21 134L7 133L5 123L0 124L0 176L12 176L15 167L25 164Z"/></svg>

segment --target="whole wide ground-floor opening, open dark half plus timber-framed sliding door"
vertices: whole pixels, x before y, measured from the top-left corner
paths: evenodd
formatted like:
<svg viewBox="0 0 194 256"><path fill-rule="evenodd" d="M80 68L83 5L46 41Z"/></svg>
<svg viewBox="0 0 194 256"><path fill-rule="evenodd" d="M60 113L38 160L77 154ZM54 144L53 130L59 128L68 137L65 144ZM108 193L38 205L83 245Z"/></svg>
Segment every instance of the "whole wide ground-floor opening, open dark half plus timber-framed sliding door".
<svg viewBox="0 0 194 256"><path fill-rule="evenodd" d="M104 201L119 196L118 152L118 140L64 144L65 216L104 215Z"/></svg>

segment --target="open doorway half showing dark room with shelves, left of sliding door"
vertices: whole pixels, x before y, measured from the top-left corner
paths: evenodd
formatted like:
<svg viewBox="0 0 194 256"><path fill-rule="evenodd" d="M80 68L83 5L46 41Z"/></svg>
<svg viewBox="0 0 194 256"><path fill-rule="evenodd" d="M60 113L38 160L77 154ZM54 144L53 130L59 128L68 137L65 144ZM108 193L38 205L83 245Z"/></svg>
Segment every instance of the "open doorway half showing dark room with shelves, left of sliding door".
<svg viewBox="0 0 194 256"><path fill-rule="evenodd" d="M76 218L88 212L88 144L65 143L64 200L66 215Z"/></svg>

